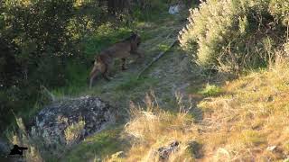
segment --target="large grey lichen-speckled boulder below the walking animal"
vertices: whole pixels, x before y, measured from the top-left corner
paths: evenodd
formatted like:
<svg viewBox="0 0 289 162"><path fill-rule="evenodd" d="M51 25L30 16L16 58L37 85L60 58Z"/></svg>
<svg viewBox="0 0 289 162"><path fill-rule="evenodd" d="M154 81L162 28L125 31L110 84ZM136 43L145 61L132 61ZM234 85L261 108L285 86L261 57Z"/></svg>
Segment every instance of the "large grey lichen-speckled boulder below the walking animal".
<svg viewBox="0 0 289 162"><path fill-rule="evenodd" d="M79 136L70 133L70 138L75 138L76 141L73 142L77 143L114 121L115 115L110 105L98 97L84 96L45 106L32 121L30 133L32 137L42 138L46 147L53 148L58 144L68 144L65 130L72 124L76 128L74 130L79 129Z"/></svg>

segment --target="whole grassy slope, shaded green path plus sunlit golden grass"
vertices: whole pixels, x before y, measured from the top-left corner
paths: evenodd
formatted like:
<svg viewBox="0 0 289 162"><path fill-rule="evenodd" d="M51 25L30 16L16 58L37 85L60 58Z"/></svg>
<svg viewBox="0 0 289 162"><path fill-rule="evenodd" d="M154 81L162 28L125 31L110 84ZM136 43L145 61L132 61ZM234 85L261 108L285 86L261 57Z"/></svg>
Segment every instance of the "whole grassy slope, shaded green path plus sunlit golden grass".
<svg viewBox="0 0 289 162"><path fill-rule="evenodd" d="M184 24L165 15L137 29L144 59L117 62L110 82L98 78L95 95L116 108L117 123L70 148L61 161L270 161L288 156L286 61L236 80L204 73L178 45L139 72L176 38ZM172 143L168 157L160 150ZM159 155L156 156L156 155Z"/></svg>

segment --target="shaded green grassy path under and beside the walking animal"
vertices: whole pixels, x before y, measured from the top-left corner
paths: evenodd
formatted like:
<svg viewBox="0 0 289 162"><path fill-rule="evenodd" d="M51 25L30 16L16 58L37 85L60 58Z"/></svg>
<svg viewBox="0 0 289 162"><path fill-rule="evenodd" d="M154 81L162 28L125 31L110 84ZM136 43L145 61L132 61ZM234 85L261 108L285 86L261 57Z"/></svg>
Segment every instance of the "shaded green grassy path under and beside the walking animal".
<svg viewBox="0 0 289 162"><path fill-rule="evenodd" d="M129 120L130 103L145 105L145 95L153 94L157 103L172 113L179 112L175 94L182 94L185 103L197 104L201 94L189 94L202 88L206 79L201 76L198 67L191 65L189 58L178 44L169 49L162 58L147 68L137 79L140 71L160 52L167 50L178 31L185 22L185 14L161 15L162 19L153 23L143 23L137 26L144 36L140 51L144 59L131 58L126 71L120 70L119 62L114 67L114 78L107 82L98 77L92 89L85 89L78 95L95 95L116 107L118 114L117 125L91 137L79 144L63 157L62 160L79 161L91 158L103 158L117 150L128 149L127 139L122 139L124 123ZM196 119L201 119L201 113L195 109L191 111ZM99 148L101 147L101 148Z"/></svg>

